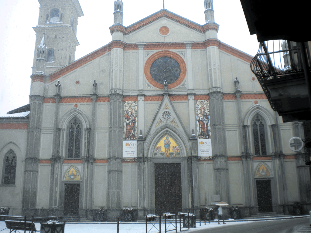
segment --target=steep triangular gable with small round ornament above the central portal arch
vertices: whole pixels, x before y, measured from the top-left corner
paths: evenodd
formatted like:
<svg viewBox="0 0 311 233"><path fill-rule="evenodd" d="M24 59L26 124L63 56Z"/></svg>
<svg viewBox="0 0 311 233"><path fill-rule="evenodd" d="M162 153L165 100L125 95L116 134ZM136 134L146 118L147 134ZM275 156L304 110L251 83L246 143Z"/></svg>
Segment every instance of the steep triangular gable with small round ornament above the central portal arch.
<svg viewBox="0 0 311 233"><path fill-rule="evenodd" d="M188 135L179 114L174 107L174 104L169 99L168 95L164 95L160 106L158 107L155 116L147 130L146 137L152 132L157 131L160 126L171 126L176 129L176 132L184 132L185 135Z"/></svg>

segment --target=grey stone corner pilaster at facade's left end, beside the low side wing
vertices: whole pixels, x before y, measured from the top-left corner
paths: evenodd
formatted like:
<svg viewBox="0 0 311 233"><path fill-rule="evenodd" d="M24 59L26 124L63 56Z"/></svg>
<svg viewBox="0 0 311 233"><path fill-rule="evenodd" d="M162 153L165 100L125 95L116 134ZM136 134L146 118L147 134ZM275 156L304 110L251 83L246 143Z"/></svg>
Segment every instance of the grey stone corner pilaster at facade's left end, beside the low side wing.
<svg viewBox="0 0 311 233"><path fill-rule="evenodd" d="M44 97L30 96L30 116L27 132L27 148L24 171L23 208L36 207L37 179L39 167L39 141Z"/></svg>

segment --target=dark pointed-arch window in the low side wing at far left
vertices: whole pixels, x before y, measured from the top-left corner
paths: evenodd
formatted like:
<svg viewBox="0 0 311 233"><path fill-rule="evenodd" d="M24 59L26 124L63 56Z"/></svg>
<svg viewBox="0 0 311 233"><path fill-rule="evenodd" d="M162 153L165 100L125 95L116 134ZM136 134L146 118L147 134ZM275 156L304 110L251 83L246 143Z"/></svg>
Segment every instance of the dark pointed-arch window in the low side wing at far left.
<svg viewBox="0 0 311 233"><path fill-rule="evenodd" d="M16 153L10 149L4 156L3 160L3 185L15 185L16 175Z"/></svg>

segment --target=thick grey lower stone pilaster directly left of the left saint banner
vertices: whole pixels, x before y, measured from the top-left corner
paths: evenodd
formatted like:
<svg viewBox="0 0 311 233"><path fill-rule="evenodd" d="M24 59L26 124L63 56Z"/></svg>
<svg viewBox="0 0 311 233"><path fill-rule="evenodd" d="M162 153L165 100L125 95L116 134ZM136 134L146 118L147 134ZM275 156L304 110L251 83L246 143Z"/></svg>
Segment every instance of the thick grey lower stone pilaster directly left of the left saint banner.
<svg viewBox="0 0 311 233"><path fill-rule="evenodd" d="M123 95L109 95L109 146L107 208L109 218L118 217L121 208L122 154L123 154Z"/></svg>

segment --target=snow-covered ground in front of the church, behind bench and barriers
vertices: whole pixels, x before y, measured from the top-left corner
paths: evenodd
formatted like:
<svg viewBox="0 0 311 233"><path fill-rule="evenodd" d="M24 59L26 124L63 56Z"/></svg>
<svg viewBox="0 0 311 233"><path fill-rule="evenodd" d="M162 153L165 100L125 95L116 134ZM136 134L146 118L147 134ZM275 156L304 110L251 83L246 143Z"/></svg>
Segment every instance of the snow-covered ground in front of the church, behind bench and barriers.
<svg viewBox="0 0 311 233"><path fill-rule="evenodd" d="M226 225L233 225L233 224L245 224L246 222L226 222ZM168 226L169 224L166 224L166 227L168 230L172 230L174 229L174 227L172 225ZM36 229L40 230L40 223L35 223ZM190 230L188 230L188 228L182 228L182 231L196 231L196 230L201 230L204 228L213 228L213 227L221 227L223 226L223 224L221 223L221 225L218 225L217 222L211 222L210 224L207 222L206 225L204 225L204 222L201 222L201 226L200 224L197 222L197 227L196 228L190 228ZM159 224L156 224L156 227L159 228ZM0 231L2 229L6 228L5 226L5 222L0 222ZM151 224L148 223L148 231L151 228ZM179 232L179 222L177 223L177 231ZM3 231L1 231L1 233L9 233L10 231L8 229L5 229ZM16 231L16 232L21 232L23 233L23 231ZM66 223L65 225L65 233L86 233L86 232L94 232L94 233L116 233L117 232L117 224L114 223L104 223L104 224L70 224L70 223ZM119 233L144 233L146 232L146 225L142 224L142 223L122 223L119 225ZM149 233L155 233L155 232L159 232L157 229L152 228ZM164 233L164 223L162 224L161 222L161 232ZM175 232L175 231L170 231L170 232Z"/></svg>

